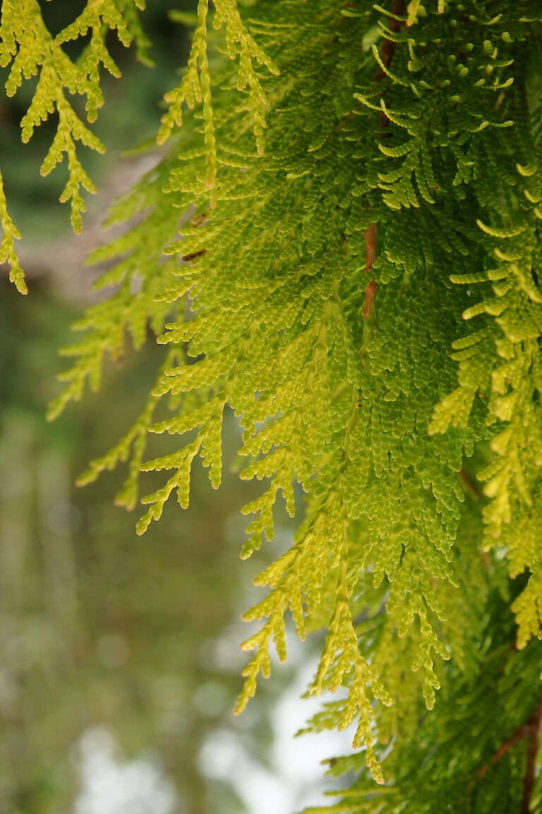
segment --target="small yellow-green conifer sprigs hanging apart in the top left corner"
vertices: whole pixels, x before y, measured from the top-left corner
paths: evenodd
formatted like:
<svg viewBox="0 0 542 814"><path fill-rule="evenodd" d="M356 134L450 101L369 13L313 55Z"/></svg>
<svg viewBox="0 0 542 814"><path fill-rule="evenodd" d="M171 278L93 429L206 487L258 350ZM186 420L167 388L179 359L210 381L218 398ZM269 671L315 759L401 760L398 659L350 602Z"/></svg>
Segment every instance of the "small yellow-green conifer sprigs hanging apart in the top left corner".
<svg viewBox="0 0 542 814"><path fill-rule="evenodd" d="M96 120L98 107L102 107L103 94L100 88L100 66L114 76L119 76L106 47L108 29L115 29L120 42L128 46L135 38L140 54L144 54L145 37L137 18L137 8L145 7L145 0L89 0L85 11L55 37L50 33L41 16L37 0L5 0L2 2L0 22L0 66L11 66L6 82L8 96L13 96L23 83L37 77L36 90L28 112L21 120L21 138L28 142L34 129L52 114L58 116L58 125L53 143L41 164L41 175L48 175L64 156L67 158L68 181L60 200L71 201L72 227L81 230L81 213L85 212L85 201L81 187L95 192L96 186L85 172L77 155L76 142L85 147L103 152L105 147L100 139L85 125L76 112L76 106L67 94L80 94L86 98L86 117L89 122ZM90 41L74 62L63 50L63 43L91 33ZM2 193L3 195L3 193ZM16 232L5 209L0 208L4 240ZM15 252L4 247L0 257L11 265L11 277L18 288L24 286Z"/></svg>

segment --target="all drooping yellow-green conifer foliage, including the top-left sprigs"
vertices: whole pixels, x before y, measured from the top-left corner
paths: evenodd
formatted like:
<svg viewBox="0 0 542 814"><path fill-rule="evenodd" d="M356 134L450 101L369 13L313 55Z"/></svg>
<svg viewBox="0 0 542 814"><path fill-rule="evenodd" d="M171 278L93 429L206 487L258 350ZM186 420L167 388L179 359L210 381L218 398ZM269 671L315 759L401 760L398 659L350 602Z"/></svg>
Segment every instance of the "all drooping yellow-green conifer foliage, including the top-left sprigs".
<svg viewBox="0 0 542 814"><path fill-rule="evenodd" d="M66 158L76 230L78 142L103 149L76 97L92 122L119 72L109 29L145 59L140 11L89 0L52 36L37 0L2 2L7 94L37 77L24 141L56 113L41 172ZM63 349L52 417L149 326L166 346L80 479L128 462L132 508L138 473L163 472L138 532L189 504L195 458L219 487L226 410L241 478L262 481L241 556L273 538L277 501L298 517L255 580L236 711L270 648L286 659L286 618L319 632L308 728L353 724L353 753L311 811L542 810L541 21L540 0L199 0L163 157L111 208L124 232L90 258L107 295ZM0 211L25 292L3 191ZM147 460L152 433L171 452Z"/></svg>

